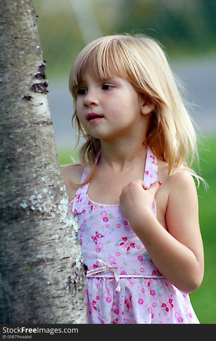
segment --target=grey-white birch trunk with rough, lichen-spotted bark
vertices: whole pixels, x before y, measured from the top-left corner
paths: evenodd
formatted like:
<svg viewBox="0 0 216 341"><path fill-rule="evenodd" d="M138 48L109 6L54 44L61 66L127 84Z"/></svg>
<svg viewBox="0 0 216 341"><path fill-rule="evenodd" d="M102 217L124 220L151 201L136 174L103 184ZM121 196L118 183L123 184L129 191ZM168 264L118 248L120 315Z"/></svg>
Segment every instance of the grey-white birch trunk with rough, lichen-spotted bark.
<svg viewBox="0 0 216 341"><path fill-rule="evenodd" d="M86 323L85 273L31 0L1 10L1 323Z"/></svg>

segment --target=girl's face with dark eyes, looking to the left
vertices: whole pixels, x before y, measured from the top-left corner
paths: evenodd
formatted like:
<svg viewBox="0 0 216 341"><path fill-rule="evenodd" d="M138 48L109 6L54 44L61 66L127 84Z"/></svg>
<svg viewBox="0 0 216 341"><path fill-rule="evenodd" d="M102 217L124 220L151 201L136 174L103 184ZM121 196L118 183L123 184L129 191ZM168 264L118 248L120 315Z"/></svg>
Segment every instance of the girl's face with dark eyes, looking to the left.
<svg viewBox="0 0 216 341"><path fill-rule="evenodd" d="M144 99L126 79L100 80L86 72L75 91L77 117L92 137L113 140L145 131Z"/></svg>

